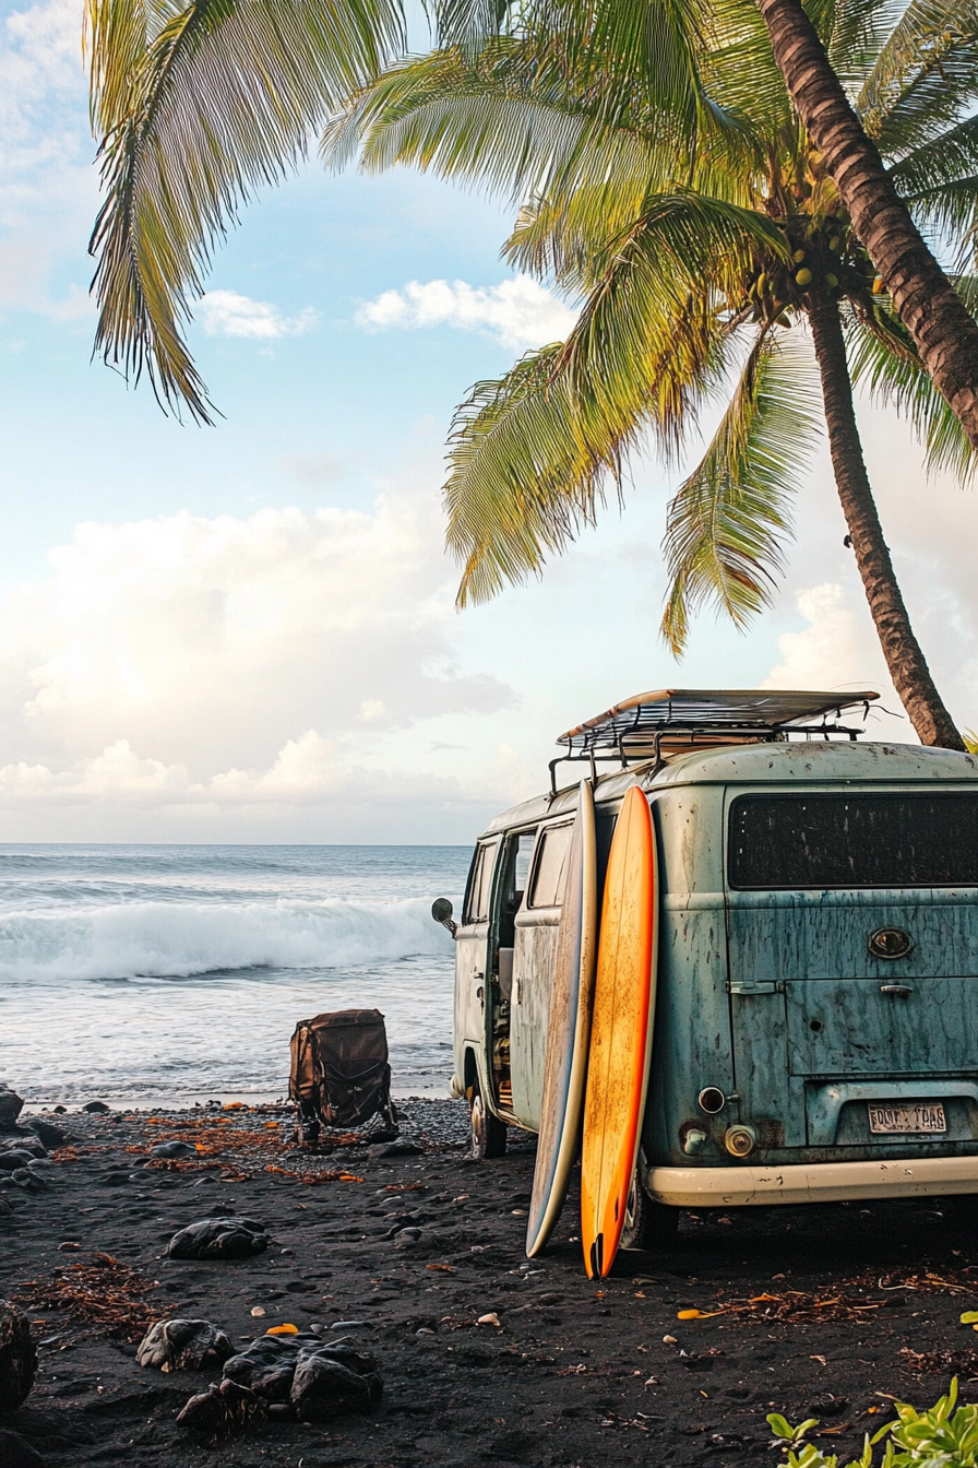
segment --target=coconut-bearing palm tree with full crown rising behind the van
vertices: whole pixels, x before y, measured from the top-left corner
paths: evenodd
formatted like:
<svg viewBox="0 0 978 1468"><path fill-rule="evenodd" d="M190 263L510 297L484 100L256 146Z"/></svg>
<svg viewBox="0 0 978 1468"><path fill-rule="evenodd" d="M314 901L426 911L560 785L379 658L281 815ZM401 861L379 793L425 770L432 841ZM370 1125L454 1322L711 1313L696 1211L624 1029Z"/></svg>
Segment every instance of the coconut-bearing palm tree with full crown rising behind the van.
<svg viewBox="0 0 978 1468"><path fill-rule="evenodd" d="M582 9L573 7L578 19ZM969 443L881 291L770 48L758 44L757 12L752 21L729 6L710 32L696 18L701 29L685 48L674 28L664 32L679 81L663 112L663 35L638 38L658 65L650 85L636 44L601 29L609 9L589 13L587 34L567 10L557 28L551 12L538 28L523 12L519 32L475 56L443 50L399 65L327 134L336 161L359 141L368 169L413 163L519 194L507 258L582 301L566 342L478 383L456 414L446 505L449 545L463 564L459 600L538 573L594 521L609 487L620 489L645 433L677 452L704 404L733 385L670 506L663 631L680 652L691 612L708 599L743 624L771 596L820 386L890 677L924 743L963 749L893 573L853 373L912 415L931 462L966 468ZM946 163L960 129L935 138L912 88L880 95L886 37L853 35L845 60L900 137L891 176L909 181L922 217L959 225L962 198L974 204L975 194L960 151L953 176ZM966 145L978 156L978 137ZM806 327L814 361L802 333L787 335L793 324Z"/></svg>

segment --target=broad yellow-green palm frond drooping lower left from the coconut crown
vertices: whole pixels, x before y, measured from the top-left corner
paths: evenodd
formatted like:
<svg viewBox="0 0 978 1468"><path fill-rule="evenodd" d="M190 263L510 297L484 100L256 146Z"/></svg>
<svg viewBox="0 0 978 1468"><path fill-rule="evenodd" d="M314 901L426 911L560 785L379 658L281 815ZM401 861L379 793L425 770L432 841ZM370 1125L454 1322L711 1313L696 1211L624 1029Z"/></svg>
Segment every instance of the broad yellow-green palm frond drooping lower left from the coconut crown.
<svg viewBox="0 0 978 1468"><path fill-rule="evenodd" d="M726 368L726 291L758 241L783 248L764 216L695 195L652 201L609 244L567 342L474 389L446 484L460 605L538 573L591 524L647 430L680 451Z"/></svg>

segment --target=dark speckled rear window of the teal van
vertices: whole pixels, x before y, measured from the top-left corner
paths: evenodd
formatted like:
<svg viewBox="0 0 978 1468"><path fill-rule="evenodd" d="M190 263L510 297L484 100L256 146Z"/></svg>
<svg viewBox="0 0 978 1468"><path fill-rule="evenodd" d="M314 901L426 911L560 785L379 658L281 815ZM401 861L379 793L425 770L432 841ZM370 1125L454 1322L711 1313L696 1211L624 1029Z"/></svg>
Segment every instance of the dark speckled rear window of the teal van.
<svg viewBox="0 0 978 1468"><path fill-rule="evenodd" d="M738 796L730 887L978 887L978 794Z"/></svg>

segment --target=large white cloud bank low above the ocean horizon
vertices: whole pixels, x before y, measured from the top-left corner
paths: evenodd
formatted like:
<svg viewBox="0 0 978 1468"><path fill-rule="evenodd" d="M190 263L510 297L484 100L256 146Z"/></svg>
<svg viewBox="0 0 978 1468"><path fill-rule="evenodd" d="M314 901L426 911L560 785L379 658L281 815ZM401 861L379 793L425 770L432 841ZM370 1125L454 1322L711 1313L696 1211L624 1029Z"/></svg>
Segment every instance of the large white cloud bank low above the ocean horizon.
<svg viewBox="0 0 978 1468"><path fill-rule="evenodd" d="M79 526L0 600L0 804L481 804L403 768L412 725L513 697L455 666L438 540L406 493Z"/></svg>

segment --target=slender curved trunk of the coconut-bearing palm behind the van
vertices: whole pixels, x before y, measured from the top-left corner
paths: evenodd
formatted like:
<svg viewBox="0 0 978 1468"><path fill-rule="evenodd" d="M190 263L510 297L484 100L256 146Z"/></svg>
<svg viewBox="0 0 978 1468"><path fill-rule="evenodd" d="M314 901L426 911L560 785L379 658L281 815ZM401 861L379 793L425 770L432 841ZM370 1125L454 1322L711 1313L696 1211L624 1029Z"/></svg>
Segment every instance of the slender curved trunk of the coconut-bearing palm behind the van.
<svg viewBox="0 0 978 1468"><path fill-rule="evenodd" d="M922 744L941 744L944 749L963 750L963 740L941 702L921 644L913 636L911 618L893 574L890 552L883 539L883 526L862 458L862 443L859 442L852 401L852 380L846 361L846 342L836 301L830 295L812 292L808 320L821 374L836 487L893 687L900 694L903 708Z"/></svg>

